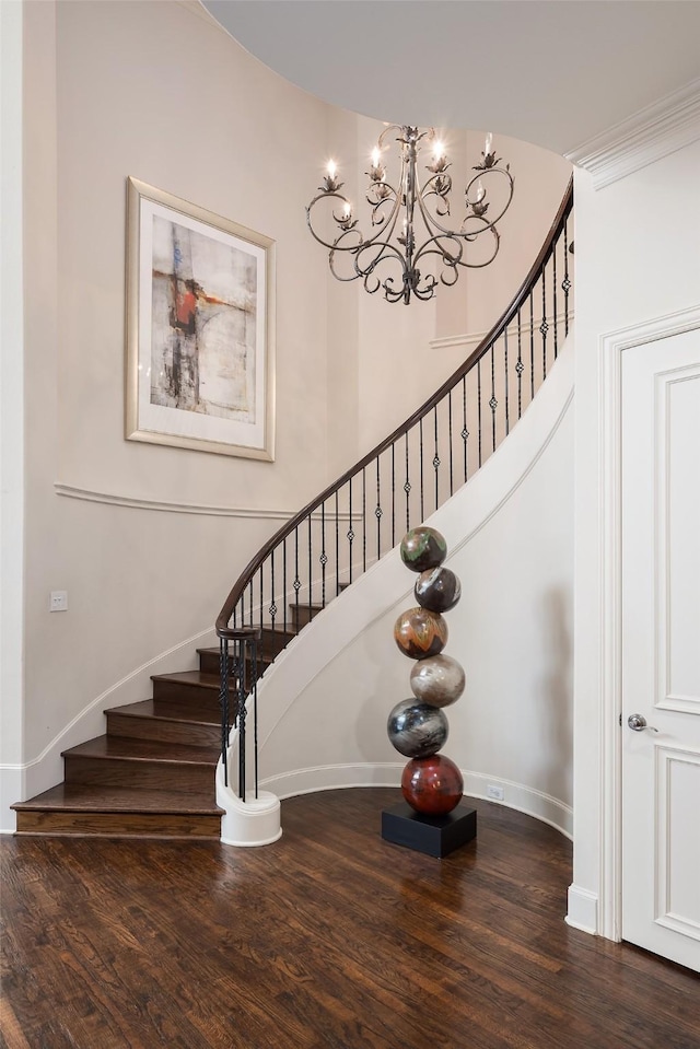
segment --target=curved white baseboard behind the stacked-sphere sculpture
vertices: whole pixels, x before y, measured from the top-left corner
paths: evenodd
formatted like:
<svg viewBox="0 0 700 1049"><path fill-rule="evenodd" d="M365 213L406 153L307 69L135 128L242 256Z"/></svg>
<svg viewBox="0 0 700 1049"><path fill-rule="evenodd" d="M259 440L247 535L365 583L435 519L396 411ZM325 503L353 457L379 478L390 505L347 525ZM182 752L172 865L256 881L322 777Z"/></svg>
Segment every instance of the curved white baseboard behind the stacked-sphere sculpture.
<svg viewBox="0 0 700 1049"><path fill-rule="evenodd" d="M280 772L260 780L260 786L272 791L280 800L295 797L299 794L313 794L317 791L336 791L350 786L399 786L405 762L378 761L357 765L319 765L292 772ZM533 816L564 835L572 837L573 814L568 805L544 794L541 791L513 783L497 776L462 770L464 792L467 797L480 797L485 801L514 808L526 816ZM503 801L495 801L487 794L488 786L500 786Z"/></svg>

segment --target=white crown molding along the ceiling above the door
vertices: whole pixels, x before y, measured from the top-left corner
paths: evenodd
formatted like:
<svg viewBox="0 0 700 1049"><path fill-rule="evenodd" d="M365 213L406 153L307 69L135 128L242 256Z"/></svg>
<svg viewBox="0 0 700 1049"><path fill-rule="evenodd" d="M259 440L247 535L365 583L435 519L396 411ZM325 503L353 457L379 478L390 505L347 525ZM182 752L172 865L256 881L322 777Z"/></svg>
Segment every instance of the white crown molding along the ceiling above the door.
<svg viewBox="0 0 700 1049"><path fill-rule="evenodd" d="M591 172L594 189L603 189L698 139L700 80L693 80L564 156Z"/></svg>

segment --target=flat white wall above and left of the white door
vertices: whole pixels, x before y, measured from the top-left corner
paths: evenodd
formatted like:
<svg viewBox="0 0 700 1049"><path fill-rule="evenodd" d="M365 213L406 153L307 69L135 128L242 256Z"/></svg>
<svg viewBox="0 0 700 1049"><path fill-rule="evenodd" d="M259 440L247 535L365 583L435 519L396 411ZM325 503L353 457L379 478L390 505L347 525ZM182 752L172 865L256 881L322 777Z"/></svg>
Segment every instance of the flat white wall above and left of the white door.
<svg viewBox="0 0 700 1049"><path fill-rule="evenodd" d="M700 303L700 143L596 190L576 173L574 882L570 919L602 930L606 827L602 753L604 482L602 340ZM663 203L662 203L663 202ZM661 213L656 214L662 203ZM614 743L611 743L614 745ZM609 829L609 828L608 828Z"/></svg>

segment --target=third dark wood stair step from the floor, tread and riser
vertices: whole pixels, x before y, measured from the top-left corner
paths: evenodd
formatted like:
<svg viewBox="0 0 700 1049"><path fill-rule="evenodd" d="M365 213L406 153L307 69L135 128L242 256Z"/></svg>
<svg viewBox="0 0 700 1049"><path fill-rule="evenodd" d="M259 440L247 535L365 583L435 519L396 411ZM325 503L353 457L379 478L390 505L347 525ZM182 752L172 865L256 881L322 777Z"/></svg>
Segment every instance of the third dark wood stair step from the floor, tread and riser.
<svg viewBox="0 0 700 1049"><path fill-rule="evenodd" d="M207 713L188 708L159 713L152 699L105 710L107 735L132 739L182 743L186 746L218 747L221 738L219 712Z"/></svg>

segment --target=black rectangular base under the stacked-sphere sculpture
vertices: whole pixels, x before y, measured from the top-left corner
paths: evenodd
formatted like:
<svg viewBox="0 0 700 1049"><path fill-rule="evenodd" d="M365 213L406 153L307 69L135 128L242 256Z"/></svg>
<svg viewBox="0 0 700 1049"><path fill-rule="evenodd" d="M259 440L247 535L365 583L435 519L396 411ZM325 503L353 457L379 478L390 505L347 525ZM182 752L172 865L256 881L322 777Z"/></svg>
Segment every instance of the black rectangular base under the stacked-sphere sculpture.
<svg viewBox="0 0 700 1049"><path fill-rule="evenodd" d="M446 816L425 816L406 802L382 813L382 837L429 856L446 856L477 836L477 813L459 802Z"/></svg>

